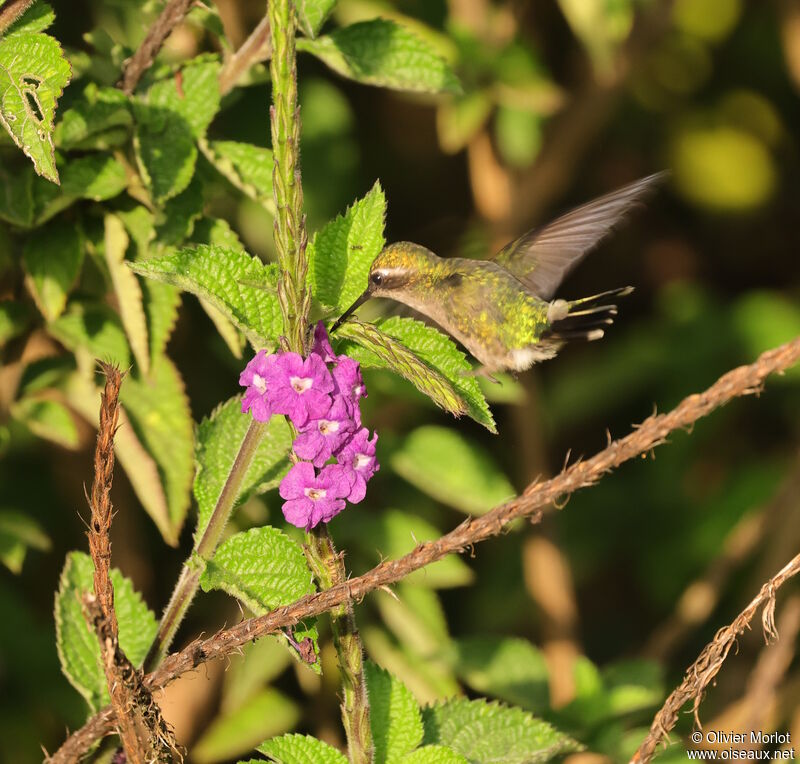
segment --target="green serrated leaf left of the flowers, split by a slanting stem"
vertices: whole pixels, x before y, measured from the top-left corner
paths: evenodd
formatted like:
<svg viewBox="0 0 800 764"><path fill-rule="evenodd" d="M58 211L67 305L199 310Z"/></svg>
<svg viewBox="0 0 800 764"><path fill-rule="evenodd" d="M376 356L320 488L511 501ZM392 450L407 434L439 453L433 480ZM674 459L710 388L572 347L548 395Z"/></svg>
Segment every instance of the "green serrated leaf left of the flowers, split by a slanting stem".
<svg viewBox="0 0 800 764"><path fill-rule="evenodd" d="M239 447L252 421L242 414L240 396L218 406L197 428L194 497L197 501L195 539L205 532L211 513L219 500ZM280 483L289 469L292 435L283 417L272 417L266 426L256 453L247 468L239 489L237 504L254 493L263 493Z"/></svg>

